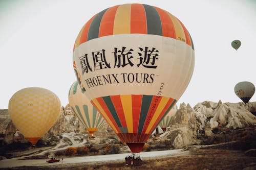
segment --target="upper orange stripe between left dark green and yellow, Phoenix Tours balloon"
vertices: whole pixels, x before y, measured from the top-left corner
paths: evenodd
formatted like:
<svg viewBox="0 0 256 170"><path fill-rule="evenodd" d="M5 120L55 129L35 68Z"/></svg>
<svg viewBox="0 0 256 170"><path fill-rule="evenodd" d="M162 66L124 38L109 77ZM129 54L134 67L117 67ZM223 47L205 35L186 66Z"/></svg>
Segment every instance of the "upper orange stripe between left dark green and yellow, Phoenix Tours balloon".
<svg viewBox="0 0 256 170"><path fill-rule="evenodd" d="M100 22L99 37L113 35L115 15L118 7L119 5L109 8L104 13Z"/></svg>

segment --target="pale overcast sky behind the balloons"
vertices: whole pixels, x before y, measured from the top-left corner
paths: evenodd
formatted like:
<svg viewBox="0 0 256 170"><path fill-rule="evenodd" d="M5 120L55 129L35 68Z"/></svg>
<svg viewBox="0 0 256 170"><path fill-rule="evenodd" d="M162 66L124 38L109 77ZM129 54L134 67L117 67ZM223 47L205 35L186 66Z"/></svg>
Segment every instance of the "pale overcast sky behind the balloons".
<svg viewBox="0 0 256 170"><path fill-rule="evenodd" d="M237 103L238 82L256 85L256 0L0 0L0 109L7 109L11 96L26 87L47 88L66 106L76 80L72 52L80 29L94 14L127 3L162 8L189 31L196 63L178 105ZM230 45L235 39L242 42L238 51Z"/></svg>

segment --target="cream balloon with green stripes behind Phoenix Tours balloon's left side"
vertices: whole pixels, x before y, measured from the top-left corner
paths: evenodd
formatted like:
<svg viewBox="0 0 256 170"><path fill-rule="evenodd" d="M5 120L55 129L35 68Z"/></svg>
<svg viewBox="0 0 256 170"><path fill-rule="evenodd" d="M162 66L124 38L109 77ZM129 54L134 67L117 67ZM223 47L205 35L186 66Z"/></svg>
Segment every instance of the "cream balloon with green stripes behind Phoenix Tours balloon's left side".
<svg viewBox="0 0 256 170"><path fill-rule="evenodd" d="M70 87L69 104L80 122L86 127L89 134L93 136L93 133L98 131L104 123L104 119L87 99L87 96L84 95L84 91L82 91L77 81Z"/></svg>

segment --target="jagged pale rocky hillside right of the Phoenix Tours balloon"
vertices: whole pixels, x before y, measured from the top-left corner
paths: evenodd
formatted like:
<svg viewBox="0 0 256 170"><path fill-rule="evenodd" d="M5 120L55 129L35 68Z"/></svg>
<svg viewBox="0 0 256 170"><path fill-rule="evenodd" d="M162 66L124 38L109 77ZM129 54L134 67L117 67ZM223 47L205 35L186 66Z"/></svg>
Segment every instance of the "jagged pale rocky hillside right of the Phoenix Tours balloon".
<svg viewBox="0 0 256 170"><path fill-rule="evenodd" d="M231 141L239 136L239 130L252 129L256 134L256 102L218 103L205 101L191 108L182 103L174 115L171 126L158 137L165 145L170 143L174 148L184 148L189 144L202 144L204 140L218 139L219 142ZM254 129L254 130L253 130ZM226 135L226 136L225 136ZM253 138L251 140L254 140ZM152 140L150 140L152 142Z"/></svg>

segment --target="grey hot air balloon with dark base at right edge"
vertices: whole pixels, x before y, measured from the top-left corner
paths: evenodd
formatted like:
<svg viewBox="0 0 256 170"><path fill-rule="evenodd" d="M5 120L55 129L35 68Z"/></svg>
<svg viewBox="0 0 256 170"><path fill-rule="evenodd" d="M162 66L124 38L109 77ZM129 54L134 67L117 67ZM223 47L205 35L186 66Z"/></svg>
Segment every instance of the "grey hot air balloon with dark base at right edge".
<svg viewBox="0 0 256 170"><path fill-rule="evenodd" d="M234 86L234 93L244 102L248 103L255 92L255 86L251 82L239 82Z"/></svg>

